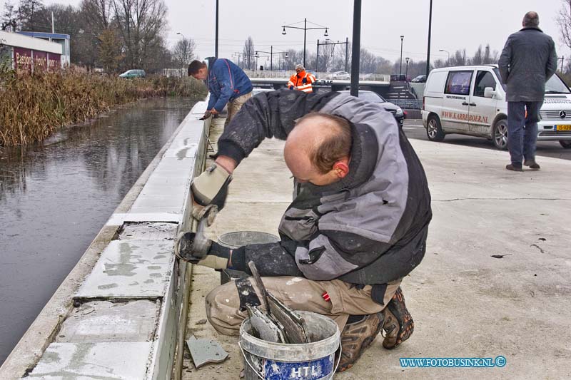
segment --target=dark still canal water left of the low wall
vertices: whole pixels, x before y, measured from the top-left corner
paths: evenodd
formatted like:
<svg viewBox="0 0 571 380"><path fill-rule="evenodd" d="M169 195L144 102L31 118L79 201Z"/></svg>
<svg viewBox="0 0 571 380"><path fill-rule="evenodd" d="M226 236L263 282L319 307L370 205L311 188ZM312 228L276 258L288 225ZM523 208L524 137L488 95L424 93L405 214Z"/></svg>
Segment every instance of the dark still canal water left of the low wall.
<svg viewBox="0 0 571 380"><path fill-rule="evenodd" d="M139 101L0 148L0 365L193 104Z"/></svg>

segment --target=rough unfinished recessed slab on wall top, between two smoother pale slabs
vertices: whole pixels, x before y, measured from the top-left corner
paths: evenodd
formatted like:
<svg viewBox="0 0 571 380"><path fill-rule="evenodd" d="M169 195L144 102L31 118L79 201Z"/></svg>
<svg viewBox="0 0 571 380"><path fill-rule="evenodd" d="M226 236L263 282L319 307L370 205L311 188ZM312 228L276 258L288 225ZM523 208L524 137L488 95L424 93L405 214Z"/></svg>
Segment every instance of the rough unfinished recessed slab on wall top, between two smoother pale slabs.
<svg viewBox="0 0 571 380"><path fill-rule="evenodd" d="M161 304L93 301L74 308L54 342L151 342Z"/></svg>

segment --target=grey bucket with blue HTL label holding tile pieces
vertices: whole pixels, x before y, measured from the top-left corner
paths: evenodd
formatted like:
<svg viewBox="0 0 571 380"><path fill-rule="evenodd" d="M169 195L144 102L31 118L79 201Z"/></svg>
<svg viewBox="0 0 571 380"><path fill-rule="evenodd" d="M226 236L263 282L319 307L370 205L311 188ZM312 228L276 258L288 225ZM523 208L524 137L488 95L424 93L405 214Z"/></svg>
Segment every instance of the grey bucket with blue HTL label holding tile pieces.
<svg viewBox="0 0 571 380"><path fill-rule="evenodd" d="M310 343L282 344L266 342L251 335L247 318L240 327L238 346L244 359L246 380L332 379L337 366L335 351L340 334L333 319L313 312L298 312L308 324ZM340 357L340 356L339 356ZM337 363L337 365L339 362Z"/></svg>

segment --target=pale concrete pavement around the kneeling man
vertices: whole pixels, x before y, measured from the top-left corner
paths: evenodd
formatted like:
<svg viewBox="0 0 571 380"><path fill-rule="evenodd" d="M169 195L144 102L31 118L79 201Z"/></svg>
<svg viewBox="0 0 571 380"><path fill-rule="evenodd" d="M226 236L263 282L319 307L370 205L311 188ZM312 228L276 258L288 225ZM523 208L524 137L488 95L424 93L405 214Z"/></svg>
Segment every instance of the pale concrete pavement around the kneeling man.
<svg viewBox="0 0 571 380"><path fill-rule="evenodd" d="M216 140L221 119L213 123ZM403 281L413 336L393 351L375 340L337 379L571 378L571 162L542 158L542 170L505 170L507 153L411 140L428 175L434 218L425 259ZM266 140L238 167L211 237L235 230L277 233L291 199L283 143ZM498 259L492 255L505 255ZM237 379L236 337L214 331L204 297L217 272L193 267L189 334L221 342L223 364L183 379ZM505 356L503 368L400 366L410 357Z"/></svg>

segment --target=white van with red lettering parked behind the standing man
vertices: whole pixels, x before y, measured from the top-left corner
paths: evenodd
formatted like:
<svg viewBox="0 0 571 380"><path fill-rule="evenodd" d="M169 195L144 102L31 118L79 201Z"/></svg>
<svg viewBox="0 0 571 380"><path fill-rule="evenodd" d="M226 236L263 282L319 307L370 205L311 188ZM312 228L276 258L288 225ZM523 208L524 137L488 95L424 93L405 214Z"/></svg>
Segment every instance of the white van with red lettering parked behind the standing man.
<svg viewBox="0 0 571 380"><path fill-rule="evenodd" d="M431 141L448 133L492 140L507 148L507 102L497 65L435 68L423 97L423 125ZM571 148L571 91L554 75L545 83L537 140L558 140Z"/></svg>

